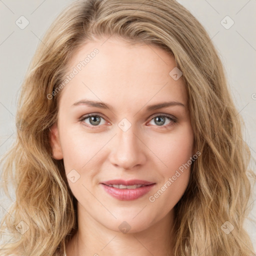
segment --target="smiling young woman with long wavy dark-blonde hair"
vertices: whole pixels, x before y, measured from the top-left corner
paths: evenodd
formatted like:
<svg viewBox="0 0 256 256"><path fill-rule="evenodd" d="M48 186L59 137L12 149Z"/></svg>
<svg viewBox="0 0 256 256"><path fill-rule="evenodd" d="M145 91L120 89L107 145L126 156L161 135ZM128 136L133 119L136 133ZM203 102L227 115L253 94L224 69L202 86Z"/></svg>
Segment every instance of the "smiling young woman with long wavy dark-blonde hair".
<svg viewBox="0 0 256 256"><path fill-rule="evenodd" d="M249 149L191 13L78 0L42 41L4 158L16 241L0 255L253 255Z"/></svg>

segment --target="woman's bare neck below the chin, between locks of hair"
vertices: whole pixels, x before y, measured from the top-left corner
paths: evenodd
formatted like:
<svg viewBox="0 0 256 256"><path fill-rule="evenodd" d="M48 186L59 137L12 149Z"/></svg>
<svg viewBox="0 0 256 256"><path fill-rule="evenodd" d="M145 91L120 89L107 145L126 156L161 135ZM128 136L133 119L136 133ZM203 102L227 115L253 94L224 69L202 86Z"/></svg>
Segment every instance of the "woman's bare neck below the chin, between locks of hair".
<svg viewBox="0 0 256 256"><path fill-rule="evenodd" d="M78 230L66 247L66 256L171 256L173 210L147 229L133 233L111 230L77 204ZM80 212L80 214L79 214Z"/></svg>

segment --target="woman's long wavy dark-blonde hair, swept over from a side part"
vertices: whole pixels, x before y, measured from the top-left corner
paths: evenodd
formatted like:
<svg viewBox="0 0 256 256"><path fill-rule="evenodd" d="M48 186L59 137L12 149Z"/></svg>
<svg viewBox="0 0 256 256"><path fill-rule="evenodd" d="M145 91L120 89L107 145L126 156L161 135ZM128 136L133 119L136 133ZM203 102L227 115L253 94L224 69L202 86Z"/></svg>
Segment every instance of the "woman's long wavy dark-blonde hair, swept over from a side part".
<svg viewBox="0 0 256 256"><path fill-rule="evenodd" d="M247 256L243 228L251 210L250 151L221 60L198 20L174 0L76 0L42 38L24 77L16 114L16 140L1 160L6 195L16 200L1 220L0 255L63 255L77 231L77 200L63 160L52 157L49 131L57 120L61 91L76 50L94 38L118 36L154 44L174 56L182 71L195 147L189 184L174 206L175 256Z"/></svg>

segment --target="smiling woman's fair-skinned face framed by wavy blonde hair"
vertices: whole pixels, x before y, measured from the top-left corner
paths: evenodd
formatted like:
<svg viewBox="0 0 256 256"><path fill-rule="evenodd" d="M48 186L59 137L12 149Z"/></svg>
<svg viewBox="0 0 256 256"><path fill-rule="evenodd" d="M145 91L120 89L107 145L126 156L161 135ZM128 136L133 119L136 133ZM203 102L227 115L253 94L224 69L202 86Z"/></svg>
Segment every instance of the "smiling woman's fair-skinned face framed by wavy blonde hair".
<svg viewBox="0 0 256 256"><path fill-rule="evenodd" d="M126 221L137 232L166 217L188 185L187 94L182 76L169 74L175 59L163 49L104 41L87 42L70 60L66 75L75 74L58 92L52 153L63 158L84 215L115 231Z"/></svg>

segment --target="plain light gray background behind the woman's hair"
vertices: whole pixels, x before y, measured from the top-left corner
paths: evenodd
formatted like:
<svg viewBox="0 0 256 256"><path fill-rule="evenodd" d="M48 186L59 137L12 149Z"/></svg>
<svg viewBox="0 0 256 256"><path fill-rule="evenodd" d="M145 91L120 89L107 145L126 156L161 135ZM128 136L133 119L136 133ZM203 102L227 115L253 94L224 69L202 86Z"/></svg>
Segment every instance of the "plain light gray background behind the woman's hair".
<svg viewBox="0 0 256 256"><path fill-rule="evenodd" d="M0 0L0 155L15 138L16 101L29 61L47 27L70 2L71 0ZM202 23L219 52L237 112L241 113L246 125L244 140L256 159L256 0L178 2ZM15 23L17 20L20 26L25 24L24 18L21 24L22 15L29 22L24 29ZM234 24L230 26L232 22ZM251 161L251 166L255 170L255 161ZM14 199L14 194L12 198ZM256 191L253 200L255 199ZM6 212L9 203L1 193L0 217ZM255 203L253 205L250 217L256 220ZM256 250L256 225L247 220L245 228Z"/></svg>

